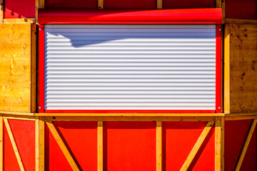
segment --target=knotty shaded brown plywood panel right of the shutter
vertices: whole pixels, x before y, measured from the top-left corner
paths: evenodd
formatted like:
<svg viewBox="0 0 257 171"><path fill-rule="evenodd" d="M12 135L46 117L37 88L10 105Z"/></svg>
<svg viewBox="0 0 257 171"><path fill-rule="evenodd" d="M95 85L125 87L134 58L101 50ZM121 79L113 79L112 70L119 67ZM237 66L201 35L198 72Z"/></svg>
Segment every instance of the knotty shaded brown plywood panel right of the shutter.
<svg viewBox="0 0 257 171"><path fill-rule="evenodd" d="M257 111L257 24L226 24L226 30L230 112Z"/></svg>

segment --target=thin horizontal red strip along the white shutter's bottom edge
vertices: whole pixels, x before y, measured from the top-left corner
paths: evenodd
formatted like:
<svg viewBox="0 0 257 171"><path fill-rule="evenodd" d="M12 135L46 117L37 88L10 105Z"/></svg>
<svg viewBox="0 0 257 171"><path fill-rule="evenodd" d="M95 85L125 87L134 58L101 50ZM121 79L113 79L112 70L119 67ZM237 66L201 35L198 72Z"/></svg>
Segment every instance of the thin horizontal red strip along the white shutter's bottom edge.
<svg viewBox="0 0 257 171"><path fill-rule="evenodd" d="M215 110L45 110L45 113L215 113Z"/></svg>

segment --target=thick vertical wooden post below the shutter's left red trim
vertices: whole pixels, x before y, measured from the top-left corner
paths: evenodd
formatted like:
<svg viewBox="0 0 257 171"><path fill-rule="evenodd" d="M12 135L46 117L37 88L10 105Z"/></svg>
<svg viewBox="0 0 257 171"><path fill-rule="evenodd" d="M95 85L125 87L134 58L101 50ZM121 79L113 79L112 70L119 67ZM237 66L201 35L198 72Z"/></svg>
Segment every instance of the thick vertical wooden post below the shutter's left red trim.
<svg viewBox="0 0 257 171"><path fill-rule="evenodd" d="M42 120L43 119L43 120ZM36 171L44 171L44 118L36 117Z"/></svg>

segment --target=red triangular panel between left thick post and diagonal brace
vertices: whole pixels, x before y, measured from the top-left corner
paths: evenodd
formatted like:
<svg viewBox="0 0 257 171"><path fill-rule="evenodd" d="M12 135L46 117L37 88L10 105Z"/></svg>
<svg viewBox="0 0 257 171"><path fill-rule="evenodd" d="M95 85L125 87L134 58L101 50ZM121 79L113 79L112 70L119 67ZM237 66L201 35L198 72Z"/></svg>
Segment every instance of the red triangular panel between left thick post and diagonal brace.
<svg viewBox="0 0 257 171"><path fill-rule="evenodd" d="M45 170L72 171L69 162L47 125L45 125Z"/></svg>

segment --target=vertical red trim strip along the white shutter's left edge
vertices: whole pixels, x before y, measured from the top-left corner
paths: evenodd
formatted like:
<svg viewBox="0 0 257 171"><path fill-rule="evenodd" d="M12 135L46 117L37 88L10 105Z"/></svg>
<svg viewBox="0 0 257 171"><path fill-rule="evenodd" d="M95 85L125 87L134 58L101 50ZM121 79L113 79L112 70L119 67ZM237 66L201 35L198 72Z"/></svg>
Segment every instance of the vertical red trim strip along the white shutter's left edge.
<svg viewBox="0 0 257 171"><path fill-rule="evenodd" d="M44 25L39 25L39 113L44 113Z"/></svg>

